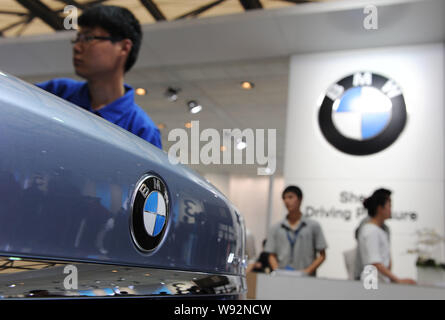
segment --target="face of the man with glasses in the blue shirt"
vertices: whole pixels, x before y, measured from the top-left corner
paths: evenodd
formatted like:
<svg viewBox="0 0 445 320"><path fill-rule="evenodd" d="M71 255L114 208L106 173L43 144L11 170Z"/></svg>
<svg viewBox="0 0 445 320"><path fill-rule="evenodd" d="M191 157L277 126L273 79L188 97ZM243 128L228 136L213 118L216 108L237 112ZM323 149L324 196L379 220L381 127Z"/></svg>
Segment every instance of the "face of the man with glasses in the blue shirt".
<svg viewBox="0 0 445 320"><path fill-rule="evenodd" d="M101 27L80 27L78 33L85 36L110 37L110 34ZM88 80L123 68L129 52L128 48L125 48L124 41L114 43L102 39L77 41L73 45L73 65L76 74Z"/></svg>

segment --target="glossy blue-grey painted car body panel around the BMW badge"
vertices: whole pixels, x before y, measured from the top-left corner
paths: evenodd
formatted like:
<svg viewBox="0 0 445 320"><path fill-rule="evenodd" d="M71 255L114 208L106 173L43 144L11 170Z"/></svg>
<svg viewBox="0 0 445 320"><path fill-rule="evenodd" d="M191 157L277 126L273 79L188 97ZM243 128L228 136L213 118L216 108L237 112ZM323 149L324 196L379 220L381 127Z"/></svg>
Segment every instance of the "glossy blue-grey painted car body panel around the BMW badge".
<svg viewBox="0 0 445 320"><path fill-rule="evenodd" d="M149 253L130 232L146 173L171 200ZM244 222L215 187L139 137L0 73L0 255L244 275Z"/></svg>

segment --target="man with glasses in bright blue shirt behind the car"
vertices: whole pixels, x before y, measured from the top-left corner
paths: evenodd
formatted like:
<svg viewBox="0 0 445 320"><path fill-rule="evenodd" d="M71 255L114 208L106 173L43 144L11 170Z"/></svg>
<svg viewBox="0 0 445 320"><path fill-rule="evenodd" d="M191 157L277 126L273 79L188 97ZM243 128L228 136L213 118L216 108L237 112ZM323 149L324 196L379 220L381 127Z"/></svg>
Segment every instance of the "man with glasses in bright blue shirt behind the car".
<svg viewBox="0 0 445 320"><path fill-rule="evenodd" d="M86 9L78 22L73 65L87 81L53 79L37 86L162 149L158 128L134 102L133 88L124 84L141 46L139 21L125 8L97 5Z"/></svg>

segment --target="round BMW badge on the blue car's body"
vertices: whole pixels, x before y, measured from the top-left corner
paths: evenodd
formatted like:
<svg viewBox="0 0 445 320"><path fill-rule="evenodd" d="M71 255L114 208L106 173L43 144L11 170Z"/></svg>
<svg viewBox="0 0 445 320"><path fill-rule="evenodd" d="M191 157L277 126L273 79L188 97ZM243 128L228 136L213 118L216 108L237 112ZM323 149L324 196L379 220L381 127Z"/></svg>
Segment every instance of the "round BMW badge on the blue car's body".
<svg viewBox="0 0 445 320"><path fill-rule="evenodd" d="M144 175L133 195L131 235L143 252L155 249L161 242L169 217L169 199L165 183L158 176Z"/></svg>

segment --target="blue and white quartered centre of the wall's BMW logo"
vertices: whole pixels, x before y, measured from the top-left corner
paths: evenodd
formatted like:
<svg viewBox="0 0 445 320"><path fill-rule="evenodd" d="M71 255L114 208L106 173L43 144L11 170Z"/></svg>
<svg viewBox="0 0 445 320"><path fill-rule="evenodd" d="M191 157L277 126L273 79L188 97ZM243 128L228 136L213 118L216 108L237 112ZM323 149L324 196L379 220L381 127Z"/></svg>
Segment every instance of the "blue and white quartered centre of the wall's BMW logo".
<svg viewBox="0 0 445 320"><path fill-rule="evenodd" d="M332 108L332 121L345 137L354 140L371 139L389 124L392 102L374 87L348 89Z"/></svg>

